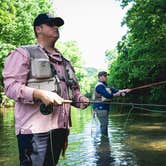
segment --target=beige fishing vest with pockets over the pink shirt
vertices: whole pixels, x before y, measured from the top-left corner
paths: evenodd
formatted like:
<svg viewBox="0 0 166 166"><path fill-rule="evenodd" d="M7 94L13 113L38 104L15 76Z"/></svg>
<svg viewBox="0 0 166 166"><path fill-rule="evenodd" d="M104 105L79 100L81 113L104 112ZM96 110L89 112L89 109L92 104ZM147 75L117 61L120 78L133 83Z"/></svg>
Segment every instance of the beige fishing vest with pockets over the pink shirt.
<svg viewBox="0 0 166 166"><path fill-rule="evenodd" d="M60 81L66 82L68 98L73 99L73 92L78 87L75 71L70 62L62 56L62 65L65 75L61 78L56 69L51 65L49 55L38 45L22 46L30 56L31 66L27 86L54 91L61 96Z"/></svg>

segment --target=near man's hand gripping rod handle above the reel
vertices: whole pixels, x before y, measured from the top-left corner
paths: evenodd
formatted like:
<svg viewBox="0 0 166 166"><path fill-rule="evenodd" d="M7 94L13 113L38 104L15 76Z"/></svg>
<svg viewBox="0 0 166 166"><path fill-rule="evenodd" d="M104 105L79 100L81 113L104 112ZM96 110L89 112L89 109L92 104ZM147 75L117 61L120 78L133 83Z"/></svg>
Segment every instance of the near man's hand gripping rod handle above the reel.
<svg viewBox="0 0 166 166"><path fill-rule="evenodd" d="M61 105L64 101L57 93L35 89L33 92L34 99L41 100L45 105L58 104Z"/></svg>

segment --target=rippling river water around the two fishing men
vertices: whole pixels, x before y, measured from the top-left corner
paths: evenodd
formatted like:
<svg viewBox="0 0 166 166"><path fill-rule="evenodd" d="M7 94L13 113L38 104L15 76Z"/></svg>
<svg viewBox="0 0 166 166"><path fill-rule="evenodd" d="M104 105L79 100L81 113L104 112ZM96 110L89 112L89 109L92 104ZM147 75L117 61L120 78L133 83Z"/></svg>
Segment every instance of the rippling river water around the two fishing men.
<svg viewBox="0 0 166 166"><path fill-rule="evenodd" d="M130 114L129 114L130 113ZM73 127L58 166L165 166L166 114L113 110L101 137L90 107L72 109ZM13 108L0 110L0 166L18 166Z"/></svg>

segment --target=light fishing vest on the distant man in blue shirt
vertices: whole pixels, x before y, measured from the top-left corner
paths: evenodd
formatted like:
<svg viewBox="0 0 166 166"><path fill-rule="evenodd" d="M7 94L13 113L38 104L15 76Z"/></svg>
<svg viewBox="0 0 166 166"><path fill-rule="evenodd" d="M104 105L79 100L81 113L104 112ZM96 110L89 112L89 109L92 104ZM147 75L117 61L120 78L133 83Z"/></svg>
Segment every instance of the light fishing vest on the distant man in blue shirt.
<svg viewBox="0 0 166 166"><path fill-rule="evenodd" d="M111 93L111 89L108 88L105 84L103 84L102 82L98 82L95 86L95 89L94 89L94 92L93 92L93 100L97 100L97 101L111 101L111 99L108 99L108 98L105 98L103 97L100 93L98 93L96 91L96 87L99 86L99 85L102 85L105 87L106 91L108 91L108 93Z"/></svg>

